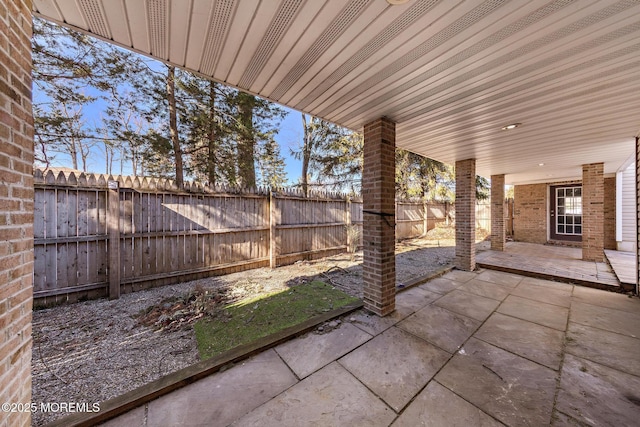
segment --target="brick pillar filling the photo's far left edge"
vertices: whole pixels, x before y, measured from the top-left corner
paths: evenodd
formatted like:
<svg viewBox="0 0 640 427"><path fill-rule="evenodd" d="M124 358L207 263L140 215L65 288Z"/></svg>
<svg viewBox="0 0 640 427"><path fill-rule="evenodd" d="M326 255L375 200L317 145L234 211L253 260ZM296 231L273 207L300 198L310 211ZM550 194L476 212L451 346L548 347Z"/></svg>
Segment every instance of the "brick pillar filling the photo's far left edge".
<svg viewBox="0 0 640 427"><path fill-rule="evenodd" d="M0 402L31 400L31 1L0 1ZM0 414L28 426L28 412Z"/></svg>

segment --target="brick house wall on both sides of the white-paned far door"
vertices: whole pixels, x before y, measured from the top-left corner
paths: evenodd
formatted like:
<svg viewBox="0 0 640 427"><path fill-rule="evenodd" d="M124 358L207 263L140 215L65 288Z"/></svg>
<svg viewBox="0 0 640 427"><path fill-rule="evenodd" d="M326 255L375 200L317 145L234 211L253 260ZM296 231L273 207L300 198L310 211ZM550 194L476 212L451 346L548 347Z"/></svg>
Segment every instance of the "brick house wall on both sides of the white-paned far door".
<svg viewBox="0 0 640 427"><path fill-rule="evenodd" d="M631 170L632 175L634 170ZM632 178L633 185L633 178ZM543 183L516 185L514 187L514 231L513 239L517 242L544 244L548 238L548 209L549 209L549 185L575 184L572 182ZM604 199L604 245L605 249L616 249L616 179L615 177L605 178L605 199ZM634 209L633 201L630 200L631 208ZM635 215L635 211L631 212ZM635 216L634 216L635 218ZM635 236L631 237L632 239Z"/></svg>

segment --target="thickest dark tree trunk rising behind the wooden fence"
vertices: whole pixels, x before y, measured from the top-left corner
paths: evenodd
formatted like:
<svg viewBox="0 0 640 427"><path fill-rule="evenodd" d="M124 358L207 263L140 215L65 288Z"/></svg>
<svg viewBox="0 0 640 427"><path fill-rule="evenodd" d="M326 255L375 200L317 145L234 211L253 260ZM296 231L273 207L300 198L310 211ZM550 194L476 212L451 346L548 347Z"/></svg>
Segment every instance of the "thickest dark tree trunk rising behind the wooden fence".
<svg viewBox="0 0 640 427"><path fill-rule="evenodd" d="M253 132L253 108L255 98L238 93L238 184L244 188L256 186L255 135Z"/></svg>

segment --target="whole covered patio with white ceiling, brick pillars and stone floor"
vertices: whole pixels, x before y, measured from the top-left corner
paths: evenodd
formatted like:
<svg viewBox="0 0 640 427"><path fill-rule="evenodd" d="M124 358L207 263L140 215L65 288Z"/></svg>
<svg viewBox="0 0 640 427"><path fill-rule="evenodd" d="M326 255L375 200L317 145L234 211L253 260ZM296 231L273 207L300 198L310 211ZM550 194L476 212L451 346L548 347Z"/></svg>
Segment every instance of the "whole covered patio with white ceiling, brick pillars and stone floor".
<svg viewBox="0 0 640 427"><path fill-rule="evenodd" d="M1 0L3 402L31 396L32 14L364 133L367 311L116 425L636 423L637 298L477 270L474 215L490 177L491 246L508 254L514 184L524 238L604 261L605 181L633 159L640 183L640 3ZM457 267L397 296L396 147L455 164Z"/></svg>

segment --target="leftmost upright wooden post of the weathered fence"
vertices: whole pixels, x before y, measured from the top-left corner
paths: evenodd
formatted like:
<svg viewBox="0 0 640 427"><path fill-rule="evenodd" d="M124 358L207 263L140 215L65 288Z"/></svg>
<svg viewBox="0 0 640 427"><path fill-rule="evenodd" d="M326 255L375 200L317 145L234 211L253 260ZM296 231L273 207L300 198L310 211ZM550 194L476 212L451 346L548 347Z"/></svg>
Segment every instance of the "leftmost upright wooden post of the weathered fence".
<svg viewBox="0 0 640 427"><path fill-rule="evenodd" d="M118 181L107 183L109 238L109 299L120 298L120 196Z"/></svg>

